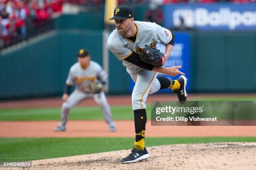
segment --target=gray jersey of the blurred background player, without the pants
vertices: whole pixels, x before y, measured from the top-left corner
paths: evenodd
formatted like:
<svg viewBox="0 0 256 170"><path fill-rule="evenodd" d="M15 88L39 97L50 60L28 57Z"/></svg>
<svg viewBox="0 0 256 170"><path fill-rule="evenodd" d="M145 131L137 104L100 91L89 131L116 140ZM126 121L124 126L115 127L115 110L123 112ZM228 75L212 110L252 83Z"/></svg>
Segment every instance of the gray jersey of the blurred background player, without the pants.
<svg viewBox="0 0 256 170"><path fill-rule="evenodd" d="M89 67L85 70L77 62L70 68L66 84L76 85L79 91L91 93L90 83L95 81L97 77L102 81L108 78L107 73L102 70L102 67L97 62L91 60Z"/></svg>

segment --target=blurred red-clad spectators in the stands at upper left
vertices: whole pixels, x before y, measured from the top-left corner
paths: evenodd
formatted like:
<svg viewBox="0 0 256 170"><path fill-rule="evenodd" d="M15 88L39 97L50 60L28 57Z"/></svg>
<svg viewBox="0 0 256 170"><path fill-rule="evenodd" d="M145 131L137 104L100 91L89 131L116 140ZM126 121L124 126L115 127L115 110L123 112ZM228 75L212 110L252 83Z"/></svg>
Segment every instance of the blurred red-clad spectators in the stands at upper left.
<svg viewBox="0 0 256 170"><path fill-rule="evenodd" d="M0 0L0 37L5 46L26 39L28 26L35 26L61 13L63 0Z"/></svg>

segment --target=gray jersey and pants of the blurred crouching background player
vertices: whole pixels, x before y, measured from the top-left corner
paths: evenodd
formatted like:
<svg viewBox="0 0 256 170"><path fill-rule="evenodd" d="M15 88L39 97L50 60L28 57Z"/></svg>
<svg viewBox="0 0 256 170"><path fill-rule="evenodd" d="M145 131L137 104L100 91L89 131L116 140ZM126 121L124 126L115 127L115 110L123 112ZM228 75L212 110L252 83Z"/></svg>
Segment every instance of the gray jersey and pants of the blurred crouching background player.
<svg viewBox="0 0 256 170"><path fill-rule="evenodd" d="M90 65L85 70L81 68L79 62L75 63L70 68L66 84L76 85L76 87L74 92L72 92L67 98L67 101L62 104L61 122L59 123L59 126L66 126L69 110L77 105L78 102L87 97L93 97L95 102L100 105L105 117L105 121L108 124L114 124L105 93L102 91L100 93L93 94L92 90L90 89L90 83L96 80L96 78L106 81L108 75L104 70L102 70L102 67L97 62L92 60L90 60Z"/></svg>

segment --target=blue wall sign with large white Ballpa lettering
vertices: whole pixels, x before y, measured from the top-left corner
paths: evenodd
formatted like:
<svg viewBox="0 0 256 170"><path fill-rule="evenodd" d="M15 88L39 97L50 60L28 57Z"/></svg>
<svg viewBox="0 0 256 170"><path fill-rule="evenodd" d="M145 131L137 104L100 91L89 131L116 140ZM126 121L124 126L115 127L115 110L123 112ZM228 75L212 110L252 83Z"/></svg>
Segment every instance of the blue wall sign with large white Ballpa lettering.
<svg viewBox="0 0 256 170"><path fill-rule="evenodd" d="M163 6L164 28L256 30L256 4L172 4Z"/></svg>

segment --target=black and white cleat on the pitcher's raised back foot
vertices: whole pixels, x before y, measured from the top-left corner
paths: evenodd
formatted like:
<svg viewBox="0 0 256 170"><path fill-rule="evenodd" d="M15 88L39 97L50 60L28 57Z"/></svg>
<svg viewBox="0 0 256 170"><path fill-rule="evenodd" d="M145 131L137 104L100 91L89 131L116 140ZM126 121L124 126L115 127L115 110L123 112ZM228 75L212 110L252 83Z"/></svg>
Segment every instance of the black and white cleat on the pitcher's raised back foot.
<svg viewBox="0 0 256 170"><path fill-rule="evenodd" d="M187 85L187 78L184 75L181 75L179 78L177 78L180 87L179 90L174 91L177 93L179 102L181 104L184 104L185 101L187 100L187 92L186 92L186 85Z"/></svg>

